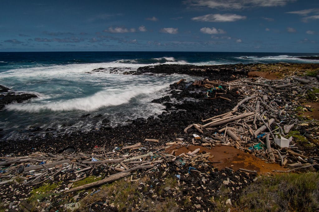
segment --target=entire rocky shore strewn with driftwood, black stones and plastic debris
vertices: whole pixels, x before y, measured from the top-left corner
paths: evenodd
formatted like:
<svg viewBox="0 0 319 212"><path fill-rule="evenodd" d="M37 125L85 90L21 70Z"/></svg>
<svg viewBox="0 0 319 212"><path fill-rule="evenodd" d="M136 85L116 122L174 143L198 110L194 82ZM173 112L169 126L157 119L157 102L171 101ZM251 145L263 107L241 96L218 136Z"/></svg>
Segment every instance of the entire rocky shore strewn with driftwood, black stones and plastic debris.
<svg viewBox="0 0 319 212"><path fill-rule="evenodd" d="M260 69L263 68L261 64L250 66L251 71L256 71L256 69L261 71ZM248 78L248 71L237 70L239 66L236 67L236 70L234 66L229 66L228 72L219 72L220 70L216 71L210 69L211 67L206 67L208 69L196 71L199 79L191 82L192 84L180 80L170 85L170 96L153 100L167 107L167 112L158 117L139 118L131 120L131 123L125 126L114 128L106 126L99 131L89 133L78 132L73 135L52 136L45 139L35 138L34 140L21 141L18 144L10 143L9 141L1 142L2 155L10 154L13 152L12 150L16 154L12 154L9 157L1 157L0 163L7 171L3 173L5 175L0 175L0 177L22 177L22 180L19 178L21 182L14 184L4 183L3 201L8 203L8 205L10 202L14 202L14 204L26 207L36 203L32 202L34 196L40 198L35 195L36 191L42 192L43 190L40 189L46 188L45 186L48 183L49 185L57 185L60 182L56 187L50 188L53 189L54 197L42 196L36 204L39 207L45 207L43 205L45 204L44 202L49 202L50 209L65 209L68 204L74 202L74 197L77 197L75 202L81 202L86 197L84 192L73 191L76 188L75 181L91 179L93 177L93 168L103 167L103 173L100 173L100 177L94 178L94 182L103 178L107 179L114 176L113 174L118 176L123 172L123 176L121 176L124 180L115 181L115 185L121 186L121 184L116 184L119 182L132 184L136 179L136 182L145 185L142 188L141 184L138 184L137 188L135 188L143 196L140 199L142 202L151 200L160 203L165 202L171 196L174 198L178 196L179 199L176 200L176 204L180 205L180 207L189 210L207 211L207 209L216 206L214 206L215 203L211 199L217 198L222 185L231 190L233 189L231 198L232 201L235 201L239 198L241 191L252 184L260 173L272 173L274 169L278 172L290 172L291 170L315 172L319 169L317 164L319 162L319 134L317 133L319 123L307 119L307 114L304 113L310 113L310 111L314 113L318 111L318 108L310 108L303 103L306 100L310 101L311 98L316 100L316 92L311 93L311 90L314 90L313 87L319 89L319 82L314 77L300 77L300 75L305 75L304 67L312 67L313 69L308 71L313 71L318 69L319 64L302 66L300 70L296 70L296 66L290 64L266 64L263 66L265 70L268 70L268 72L265 72L268 74L269 72L276 74L276 70L285 69L283 72L291 73L291 75L282 78L280 74L283 73L279 73L276 76L280 80L267 80L264 78ZM274 69L275 66L277 69ZM141 73L160 73L165 71L165 67L167 68L167 66L146 67L144 69L141 68L139 71ZM180 67L170 66L170 68L178 72L181 71ZM245 66L245 69L248 69L247 67L249 66ZM291 69L289 70L288 67ZM215 68L218 69L220 67ZM193 69L194 67L189 67L188 71L194 73ZM269 69L273 69L273 71L271 72ZM185 71L185 69L182 69L182 72ZM205 75L208 76L208 79L203 79ZM209 96L206 96L208 89L216 87L218 92L208 92ZM172 98L180 100L180 103L172 103ZM196 99L196 101L190 99ZM253 112L257 108L257 101L260 102L259 111L262 118L256 116L255 127L251 120L254 120L254 114L259 115L259 113ZM207 123L214 120L218 123L218 121L235 117L242 118L234 120L230 124L226 123L226 125L222 123L216 126L207 125ZM262 134L267 133L271 137L271 133L269 133L270 131L267 127L263 126L267 126L266 123L272 119L274 123L272 125L268 124L268 127L273 133L277 134L283 133L280 132L281 130L277 126L280 126L282 130L286 130L285 127L290 126L292 123L294 124L291 128L291 132L293 132L291 134L293 136L291 144L293 146L279 148L271 138L270 151L266 150L266 147L254 151L249 149L250 147L254 149L254 145L258 144L260 140L266 144L267 135ZM252 134L250 134L249 127L246 128L245 126L249 126L252 129ZM264 129L259 130L262 127ZM254 134L258 130L261 132ZM225 133L227 133L227 136ZM195 137L194 134L198 135L199 138ZM289 135L289 130L288 133L284 134ZM260 135L260 137L254 135ZM34 146L36 145L35 148L32 147L33 144ZM195 148L197 147L199 150L196 152ZM75 152L74 148L76 148ZM223 151L218 151L219 148ZM166 150L164 151L164 149ZM59 150L64 150L64 152L58 153ZM276 150L280 150L281 153ZM150 157L150 153L155 154L155 156ZM272 155L274 154L273 157L270 156L271 153ZM16 157L24 155L28 156ZM215 157L211 157L212 155L215 155ZM283 156L285 158L282 158ZM92 157L100 162L92 161ZM143 157L144 160L142 161L144 162L131 159L135 157ZM128 158L132 160L132 163L124 163L124 161L123 166L120 161L116 161L119 159L124 160L121 158ZM181 165L180 163L184 162L183 160L178 161L178 158L183 158L185 164ZM199 158L200 160L193 160L193 158ZM17 160L26 161L17 162ZM42 167L40 167L38 175L32 175L32 172L30 172L30 170L32 171L35 168L32 165L41 166L38 165L39 160L46 161L43 165L49 167L53 165L53 161L69 161L64 161L62 166L60 166L61 164L53 166L52 170L54 171L47 173L49 174L48 176L52 175L52 179L50 179L45 178L46 174L41 175L41 173L48 172L47 169L42 169ZM176 163L176 161L179 163ZM254 165L255 162L258 162L258 164ZM8 166L8 163L10 166ZM15 165L18 165L18 163L25 168L25 172L22 174L16 173L17 167ZM88 166L86 168L91 168L83 170L85 168L77 163L86 164L85 166ZM104 166L103 163L106 165ZM137 166L132 165L134 163L143 167L136 168ZM225 166L221 167L219 163L223 163ZM271 164L273 166L270 166ZM146 166L147 169L145 170ZM190 167L196 168L196 171L189 171ZM155 171L152 171L154 168ZM131 177L126 174L124 176L125 170L129 169L134 169L131 172ZM80 170L82 171L77 172ZM174 178L177 175L180 176L178 180ZM148 179L143 181L142 179L145 177L148 177ZM156 183L156 179L160 184ZM167 186L170 179L174 183ZM40 184L36 184L38 181ZM26 182L28 183L25 184ZM86 185L87 182L84 184ZM11 188L15 188L16 192L12 193ZM26 189L32 191L31 194L26 194L24 192ZM99 189L105 189L105 187L99 187ZM65 193L69 193L68 190L71 193L68 203L61 208L59 201L64 198ZM94 198L101 198L99 193L93 194L98 192L95 188L93 190L88 188L85 191L88 192L89 196L92 193L92 198L90 197L92 201L87 204L96 202ZM45 190L44 192L48 191ZM197 197L193 196L194 193L199 195ZM12 199L14 195L24 200L24 202ZM112 205L112 200L109 197L103 197L102 204L103 207L109 210L117 210L117 206Z"/></svg>

